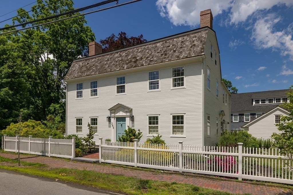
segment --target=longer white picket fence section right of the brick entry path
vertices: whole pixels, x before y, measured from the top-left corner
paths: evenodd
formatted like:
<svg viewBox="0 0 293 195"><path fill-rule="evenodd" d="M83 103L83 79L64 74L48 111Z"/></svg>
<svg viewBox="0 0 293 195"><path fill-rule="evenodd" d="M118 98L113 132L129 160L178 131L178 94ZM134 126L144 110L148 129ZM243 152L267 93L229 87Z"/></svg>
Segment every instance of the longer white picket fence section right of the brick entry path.
<svg viewBox="0 0 293 195"><path fill-rule="evenodd" d="M293 162L277 149L99 140L99 162L293 184Z"/></svg>

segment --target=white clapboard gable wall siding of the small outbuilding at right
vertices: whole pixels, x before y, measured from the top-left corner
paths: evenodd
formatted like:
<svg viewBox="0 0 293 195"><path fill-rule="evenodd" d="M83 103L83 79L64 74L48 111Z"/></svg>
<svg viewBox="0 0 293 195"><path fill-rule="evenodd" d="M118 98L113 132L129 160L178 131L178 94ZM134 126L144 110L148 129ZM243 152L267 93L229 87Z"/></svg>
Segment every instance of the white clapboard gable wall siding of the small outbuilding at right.
<svg viewBox="0 0 293 195"><path fill-rule="evenodd" d="M273 133L279 133L275 124L275 115L288 116L287 113L276 110L248 127L248 133L253 137L271 139Z"/></svg>

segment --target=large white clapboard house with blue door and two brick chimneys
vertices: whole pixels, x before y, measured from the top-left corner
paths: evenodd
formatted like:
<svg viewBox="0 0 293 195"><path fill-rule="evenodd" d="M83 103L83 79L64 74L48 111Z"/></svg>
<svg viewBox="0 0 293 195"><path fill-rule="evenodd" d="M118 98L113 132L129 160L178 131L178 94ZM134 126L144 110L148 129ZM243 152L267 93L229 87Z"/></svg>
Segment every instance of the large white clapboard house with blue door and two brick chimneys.
<svg viewBox="0 0 293 195"><path fill-rule="evenodd" d="M200 28L76 59L67 83L66 134L88 133L116 141L127 126L145 141L160 133L168 144L214 145L230 130L230 93L221 81L212 13L200 13Z"/></svg>

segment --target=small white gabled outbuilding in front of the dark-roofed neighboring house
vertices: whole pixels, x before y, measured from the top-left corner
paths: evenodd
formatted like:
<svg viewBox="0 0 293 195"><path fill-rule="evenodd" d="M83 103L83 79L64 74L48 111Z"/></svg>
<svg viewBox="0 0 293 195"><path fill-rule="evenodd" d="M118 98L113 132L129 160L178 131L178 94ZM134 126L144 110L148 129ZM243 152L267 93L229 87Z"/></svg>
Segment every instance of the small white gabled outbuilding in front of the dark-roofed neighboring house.
<svg viewBox="0 0 293 195"><path fill-rule="evenodd" d="M271 136L273 133L280 133L276 124L280 122L281 116L288 116L289 114L289 111L280 106L276 106L263 115L246 123L241 128L248 131L253 137L272 139Z"/></svg>

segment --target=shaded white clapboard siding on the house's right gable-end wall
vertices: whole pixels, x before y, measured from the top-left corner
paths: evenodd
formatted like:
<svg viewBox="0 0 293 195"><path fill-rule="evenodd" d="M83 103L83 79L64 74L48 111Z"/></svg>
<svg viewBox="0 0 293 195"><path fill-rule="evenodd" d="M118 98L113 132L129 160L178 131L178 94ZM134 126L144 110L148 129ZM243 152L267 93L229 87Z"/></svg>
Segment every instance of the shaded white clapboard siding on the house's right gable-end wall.
<svg viewBox="0 0 293 195"><path fill-rule="evenodd" d="M213 46L213 57L210 55L210 44ZM215 54L217 53L217 65L215 65ZM207 68L210 70L210 89L207 87ZM217 40L214 32L211 30L207 34L207 42L205 46L205 60L204 60L204 145L205 146L214 146L215 143L219 140L220 137L220 128L221 128L221 117L219 116L220 111L224 111L225 122L223 129L230 131L230 115L231 115L231 95L226 90L221 82L221 70L220 70L220 58L219 58L219 48L217 45ZM218 97L216 96L216 85L217 81L219 83ZM223 103L223 89L225 90L225 99ZM226 94L227 94L227 105L226 105ZM230 107L229 107L230 105ZM207 134L207 115L210 115L210 135ZM216 120L219 120L219 134L217 135Z"/></svg>

